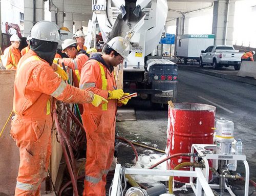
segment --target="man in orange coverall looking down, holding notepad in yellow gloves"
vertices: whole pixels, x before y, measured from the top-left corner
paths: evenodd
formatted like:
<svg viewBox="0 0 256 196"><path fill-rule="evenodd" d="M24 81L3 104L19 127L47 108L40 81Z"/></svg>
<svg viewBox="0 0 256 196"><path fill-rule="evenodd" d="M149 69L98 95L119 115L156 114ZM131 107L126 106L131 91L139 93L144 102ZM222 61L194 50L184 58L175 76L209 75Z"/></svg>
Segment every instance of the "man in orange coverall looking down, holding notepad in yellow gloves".
<svg viewBox="0 0 256 196"><path fill-rule="evenodd" d="M82 122L87 136L83 195L86 196L105 195L106 175L114 157L117 104L126 104L129 100L118 101L129 93L116 89L113 70L129 54L129 41L114 37L107 43L103 55L95 53L82 68L79 88L109 100L109 103L103 103L97 108L83 104Z"/></svg>

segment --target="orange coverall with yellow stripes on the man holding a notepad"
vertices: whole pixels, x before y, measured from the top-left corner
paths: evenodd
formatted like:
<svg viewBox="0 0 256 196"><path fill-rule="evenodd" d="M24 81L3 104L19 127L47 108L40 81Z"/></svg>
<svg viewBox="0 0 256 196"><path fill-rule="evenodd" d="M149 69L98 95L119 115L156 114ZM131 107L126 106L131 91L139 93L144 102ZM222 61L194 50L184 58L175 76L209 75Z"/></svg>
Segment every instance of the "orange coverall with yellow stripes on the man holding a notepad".
<svg viewBox="0 0 256 196"><path fill-rule="evenodd" d="M114 72L102 63L89 59L81 72L80 88L108 98L116 88ZM87 136L86 177L83 195L105 195L106 175L114 156L117 99L92 107L83 104L82 122Z"/></svg>

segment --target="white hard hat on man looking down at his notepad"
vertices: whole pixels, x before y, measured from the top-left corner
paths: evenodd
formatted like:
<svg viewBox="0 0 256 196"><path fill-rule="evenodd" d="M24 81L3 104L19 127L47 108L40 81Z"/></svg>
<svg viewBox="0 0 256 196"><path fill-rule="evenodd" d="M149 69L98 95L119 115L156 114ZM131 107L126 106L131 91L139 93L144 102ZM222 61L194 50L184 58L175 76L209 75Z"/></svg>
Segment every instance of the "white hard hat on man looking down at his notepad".
<svg viewBox="0 0 256 196"><path fill-rule="evenodd" d="M131 45L127 39L114 37L106 44L119 53L125 60L128 60L128 55L131 53Z"/></svg>

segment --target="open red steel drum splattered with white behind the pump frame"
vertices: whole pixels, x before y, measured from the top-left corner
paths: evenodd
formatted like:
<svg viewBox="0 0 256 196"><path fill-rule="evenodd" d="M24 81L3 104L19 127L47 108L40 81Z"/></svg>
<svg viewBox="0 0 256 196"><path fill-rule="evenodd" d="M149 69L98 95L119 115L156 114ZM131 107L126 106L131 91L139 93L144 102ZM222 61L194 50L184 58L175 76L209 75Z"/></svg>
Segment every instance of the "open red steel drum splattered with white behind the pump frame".
<svg viewBox="0 0 256 196"><path fill-rule="evenodd" d="M201 103L175 103L168 109L167 156L190 153L192 144L214 144L216 107ZM168 160L168 169L190 162L190 157L175 157ZM210 164L210 163L209 163ZM212 166L212 162L210 164ZM183 168L181 170L189 170ZM175 177L176 181L187 183L188 177ZM209 180L212 172L209 172Z"/></svg>

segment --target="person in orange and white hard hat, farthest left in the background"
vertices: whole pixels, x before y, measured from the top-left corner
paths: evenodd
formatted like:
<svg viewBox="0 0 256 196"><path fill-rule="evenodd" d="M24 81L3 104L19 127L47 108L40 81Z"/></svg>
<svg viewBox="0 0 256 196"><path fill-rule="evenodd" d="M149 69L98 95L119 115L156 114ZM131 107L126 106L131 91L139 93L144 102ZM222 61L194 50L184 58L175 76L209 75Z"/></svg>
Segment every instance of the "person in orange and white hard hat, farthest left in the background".
<svg viewBox="0 0 256 196"><path fill-rule="evenodd" d="M20 39L17 35L12 35L10 37L11 46L5 49L4 55L1 56L3 66L7 70L16 70L18 61L21 57L20 51L18 49Z"/></svg>

